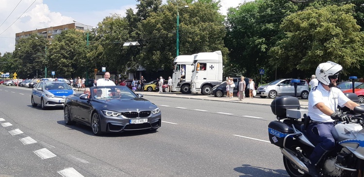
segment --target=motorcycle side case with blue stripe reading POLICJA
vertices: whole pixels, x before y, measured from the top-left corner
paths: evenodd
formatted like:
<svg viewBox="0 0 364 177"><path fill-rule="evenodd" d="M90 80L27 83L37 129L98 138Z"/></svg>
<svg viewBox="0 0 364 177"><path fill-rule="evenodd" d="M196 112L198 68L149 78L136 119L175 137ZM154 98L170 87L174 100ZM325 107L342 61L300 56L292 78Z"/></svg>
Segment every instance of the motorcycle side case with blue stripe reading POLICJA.
<svg viewBox="0 0 364 177"><path fill-rule="evenodd" d="M283 124L280 121L272 121L268 124L269 141L283 148L283 140L289 134L293 134L294 130L291 126Z"/></svg>

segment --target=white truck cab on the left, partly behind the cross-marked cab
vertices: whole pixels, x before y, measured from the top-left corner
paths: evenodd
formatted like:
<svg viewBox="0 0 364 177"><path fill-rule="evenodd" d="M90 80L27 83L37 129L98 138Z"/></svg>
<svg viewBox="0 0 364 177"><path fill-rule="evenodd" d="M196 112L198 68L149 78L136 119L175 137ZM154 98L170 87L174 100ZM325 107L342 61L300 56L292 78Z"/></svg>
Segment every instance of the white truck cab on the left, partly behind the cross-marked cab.
<svg viewBox="0 0 364 177"><path fill-rule="evenodd" d="M172 91L191 92L194 55L179 55L173 61ZM182 77L181 77L182 76Z"/></svg>

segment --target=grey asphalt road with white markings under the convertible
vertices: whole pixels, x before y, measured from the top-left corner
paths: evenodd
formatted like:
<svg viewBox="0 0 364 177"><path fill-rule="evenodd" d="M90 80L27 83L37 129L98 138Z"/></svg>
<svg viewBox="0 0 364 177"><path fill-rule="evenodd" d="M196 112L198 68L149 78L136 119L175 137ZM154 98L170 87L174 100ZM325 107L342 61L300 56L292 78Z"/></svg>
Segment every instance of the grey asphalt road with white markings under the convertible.
<svg viewBox="0 0 364 177"><path fill-rule="evenodd" d="M145 95L162 111L157 132L97 137L30 95L0 87L0 177L288 176L268 142L269 106Z"/></svg>

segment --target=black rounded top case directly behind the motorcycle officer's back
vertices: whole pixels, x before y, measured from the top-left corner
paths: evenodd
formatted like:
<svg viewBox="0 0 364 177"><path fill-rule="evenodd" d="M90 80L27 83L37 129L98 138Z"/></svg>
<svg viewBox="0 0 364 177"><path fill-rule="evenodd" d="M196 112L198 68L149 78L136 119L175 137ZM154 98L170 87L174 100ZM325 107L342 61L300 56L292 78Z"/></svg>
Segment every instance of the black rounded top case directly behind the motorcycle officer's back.
<svg viewBox="0 0 364 177"><path fill-rule="evenodd" d="M286 109L299 109L298 98L294 96L281 96L275 98L270 104L274 115L280 118L286 117Z"/></svg>

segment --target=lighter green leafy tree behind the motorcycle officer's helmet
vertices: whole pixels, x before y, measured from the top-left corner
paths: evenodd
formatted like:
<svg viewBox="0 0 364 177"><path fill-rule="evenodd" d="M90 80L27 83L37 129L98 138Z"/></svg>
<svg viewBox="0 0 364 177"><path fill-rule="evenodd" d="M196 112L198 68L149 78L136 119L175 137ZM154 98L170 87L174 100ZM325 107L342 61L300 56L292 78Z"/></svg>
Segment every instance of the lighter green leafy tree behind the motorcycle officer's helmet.
<svg viewBox="0 0 364 177"><path fill-rule="evenodd" d="M314 73L319 63L333 61L347 73L358 71L364 34L352 16L353 6L309 7L284 18L284 37L270 49L270 64Z"/></svg>

